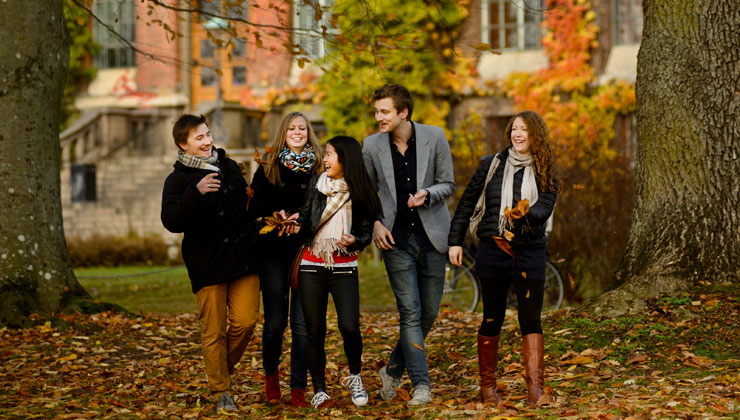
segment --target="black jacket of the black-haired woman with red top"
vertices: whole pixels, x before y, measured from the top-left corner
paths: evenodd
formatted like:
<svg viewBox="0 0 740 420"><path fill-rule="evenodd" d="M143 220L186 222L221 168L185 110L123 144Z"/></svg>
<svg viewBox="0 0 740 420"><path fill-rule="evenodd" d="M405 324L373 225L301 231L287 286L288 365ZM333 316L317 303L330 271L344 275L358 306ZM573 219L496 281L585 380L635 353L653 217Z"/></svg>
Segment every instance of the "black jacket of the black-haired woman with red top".
<svg viewBox="0 0 740 420"><path fill-rule="evenodd" d="M311 184L308 190L306 202L298 216L298 223L301 224L299 233L303 243L309 245L316 236L316 228L321 221L321 214L326 208L327 196L316 188L316 181L319 175L311 178ZM373 239L373 223L377 220L377 215L371 215L367 209L352 203L352 228L350 233L355 237L355 243L347 247L347 251L362 251L370 244ZM340 239L340 238L337 238Z"/></svg>

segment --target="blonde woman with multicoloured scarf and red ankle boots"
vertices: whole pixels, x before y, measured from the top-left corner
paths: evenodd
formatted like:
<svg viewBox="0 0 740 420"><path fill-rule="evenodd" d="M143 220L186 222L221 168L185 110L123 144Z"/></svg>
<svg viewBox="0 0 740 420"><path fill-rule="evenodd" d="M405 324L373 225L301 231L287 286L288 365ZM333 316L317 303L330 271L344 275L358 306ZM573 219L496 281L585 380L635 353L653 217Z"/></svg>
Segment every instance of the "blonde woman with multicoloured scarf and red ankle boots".
<svg viewBox="0 0 740 420"><path fill-rule="evenodd" d="M300 112L283 118L272 141L272 151L257 168L252 181L254 195L249 210L254 217L287 219L298 214L308 191L311 177L323 169L322 154L311 123ZM262 366L265 369L265 397L280 401L278 366L282 354L283 333L290 313L290 400L297 407L307 407L308 336L303 318L300 292L288 285L288 271L300 240L281 235L278 229L258 236L256 254L262 288L265 323L262 330ZM290 309L290 311L289 311Z"/></svg>

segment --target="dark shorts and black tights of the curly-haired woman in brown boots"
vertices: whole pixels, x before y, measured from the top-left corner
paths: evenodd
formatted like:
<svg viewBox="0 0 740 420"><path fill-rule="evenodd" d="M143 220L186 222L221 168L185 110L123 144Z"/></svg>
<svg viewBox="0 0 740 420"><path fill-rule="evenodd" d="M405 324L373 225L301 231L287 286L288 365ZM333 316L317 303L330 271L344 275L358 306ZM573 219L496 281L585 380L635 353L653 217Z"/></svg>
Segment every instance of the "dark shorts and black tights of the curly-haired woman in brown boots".
<svg viewBox="0 0 740 420"><path fill-rule="evenodd" d="M483 320L478 333L495 337L506 316L506 296L514 284L517 315L522 336L542 334L542 301L545 295L545 248L514 249L516 258L501 251L493 241L481 240L476 253L480 277Z"/></svg>

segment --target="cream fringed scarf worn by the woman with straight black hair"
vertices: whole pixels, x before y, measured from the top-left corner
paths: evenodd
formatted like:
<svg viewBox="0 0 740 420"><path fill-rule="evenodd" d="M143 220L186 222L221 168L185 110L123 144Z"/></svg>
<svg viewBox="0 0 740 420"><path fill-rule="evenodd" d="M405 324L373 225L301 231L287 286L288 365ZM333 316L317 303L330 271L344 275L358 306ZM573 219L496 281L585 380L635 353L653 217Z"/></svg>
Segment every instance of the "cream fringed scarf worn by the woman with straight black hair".
<svg viewBox="0 0 740 420"><path fill-rule="evenodd" d="M342 235L349 234L352 229L352 201L349 199L349 186L344 179L332 179L326 172L319 176L316 188L326 195L326 208L321 214L319 224L327 218L331 219L316 233L311 243L311 254L321 258L324 266L334 265L334 253L354 255L357 252L347 252L346 248L337 246Z"/></svg>

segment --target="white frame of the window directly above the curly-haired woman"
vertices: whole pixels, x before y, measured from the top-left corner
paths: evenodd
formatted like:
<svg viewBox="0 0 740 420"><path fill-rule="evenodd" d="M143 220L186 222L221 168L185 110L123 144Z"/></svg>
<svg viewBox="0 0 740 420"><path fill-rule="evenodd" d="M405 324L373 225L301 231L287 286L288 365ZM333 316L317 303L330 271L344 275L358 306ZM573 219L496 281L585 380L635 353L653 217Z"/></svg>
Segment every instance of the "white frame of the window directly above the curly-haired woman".
<svg viewBox="0 0 740 420"><path fill-rule="evenodd" d="M497 1L497 5L499 7L499 17L500 20L498 23L491 24L489 23L489 16L491 15L491 0L481 0L481 42L484 44L488 44L491 46L491 48L497 48L494 45L491 45L491 37L490 37L490 31L494 28L498 28L499 31L499 39L506 41L506 28L507 23L505 21L501 21L504 19L504 4L506 2L512 3L513 7L517 11L516 14L516 32L517 32L517 45L516 46L508 46L506 45L504 48L500 48L502 51L524 51L524 50L539 50L542 49L542 28L540 24L543 20L543 15L545 12L545 1L544 0L506 0L506 1ZM537 4L539 3L539 4ZM540 30L540 36L537 39L537 45L536 46L526 46L526 25L525 25L525 14L526 13L532 13L535 16L535 22L534 23L527 23L527 24L536 24L537 27ZM510 24L509 24L510 25Z"/></svg>

